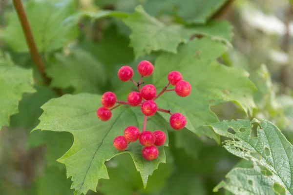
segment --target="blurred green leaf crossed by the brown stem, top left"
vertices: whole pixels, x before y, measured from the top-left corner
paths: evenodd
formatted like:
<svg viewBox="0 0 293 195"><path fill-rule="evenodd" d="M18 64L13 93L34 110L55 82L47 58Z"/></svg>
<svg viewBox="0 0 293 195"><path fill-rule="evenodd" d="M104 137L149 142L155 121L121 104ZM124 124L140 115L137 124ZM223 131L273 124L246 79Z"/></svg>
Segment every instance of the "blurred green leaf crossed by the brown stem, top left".
<svg viewBox="0 0 293 195"><path fill-rule="evenodd" d="M75 1L28 1L24 4L28 21L40 52L50 52L78 36L78 25L65 19L75 12ZM8 15L2 39L16 52L28 52L16 12Z"/></svg>

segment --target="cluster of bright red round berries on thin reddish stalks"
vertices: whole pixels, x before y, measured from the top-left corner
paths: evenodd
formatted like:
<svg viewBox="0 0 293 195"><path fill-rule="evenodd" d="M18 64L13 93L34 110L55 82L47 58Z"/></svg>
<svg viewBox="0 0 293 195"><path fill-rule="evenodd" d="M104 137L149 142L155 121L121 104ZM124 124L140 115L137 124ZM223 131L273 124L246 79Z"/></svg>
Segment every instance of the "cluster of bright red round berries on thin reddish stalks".
<svg viewBox="0 0 293 195"><path fill-rule="evenodd" d="M145 115L143 130L140 133L139 129L135 126L128 126L124 130L124 136L115 137L113 145L117 150L126 150L129 142L139 140L142 146L145 146L142 150L142 155L146 160L153 160L158 157L159 151L156 146L162 146L166 140L166 135L163 131L156 130L154 132L146 131L147 117L153 116L157 111L168 113L171 115L169 119L170 126L175 130L181 130L186 126L186 117L181 113L172 114L170 110L160 109L157 107L155 100L159 98L163 93L169 91L175 91L180 97L187 97L191 91L191 85L183 80L182 75L178 71L171 71L168 76L168 84L163 90L157 94L157 89L151 84L146 84L141 87L144 77L151 76L154 71L154 66L146 60L141 61L137 66L137 71L141 75L140 81L135 82L132 79L133 70L129 66L123 66L118 70L118 78L127 82L131 80L138 88L137 91L130 92L127 96L127 101L117 101L117 97L112 92L106 92L103 94L101 102L102 107L97 110L97 116L102 121L107 121L111 118L111 110L121 106L123 104L130 106L140 106L142 113ZM168 89L169 85L175 86L173 89ZM114 106L117 103L116 106Z"/></svg>

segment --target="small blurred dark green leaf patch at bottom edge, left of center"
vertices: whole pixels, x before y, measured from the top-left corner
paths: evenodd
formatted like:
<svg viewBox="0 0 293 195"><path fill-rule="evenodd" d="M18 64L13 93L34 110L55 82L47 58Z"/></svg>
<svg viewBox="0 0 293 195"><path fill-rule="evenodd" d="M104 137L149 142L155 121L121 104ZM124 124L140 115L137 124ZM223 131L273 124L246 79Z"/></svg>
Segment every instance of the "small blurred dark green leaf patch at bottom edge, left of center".
<svg viewBox="0 0 293 195"><path fill-rule="evenodd" d="M72 195L71 181L66 179L65 169L46 168L43 176L35 181L37 195Z"/></svg>

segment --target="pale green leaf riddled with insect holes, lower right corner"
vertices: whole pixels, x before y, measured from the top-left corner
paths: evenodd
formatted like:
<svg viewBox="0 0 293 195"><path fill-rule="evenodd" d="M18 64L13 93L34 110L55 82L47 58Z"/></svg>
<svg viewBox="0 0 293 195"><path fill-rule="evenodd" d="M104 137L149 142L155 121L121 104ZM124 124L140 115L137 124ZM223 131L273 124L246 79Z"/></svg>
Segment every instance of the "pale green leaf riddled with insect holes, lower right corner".
<svg viewBox="0 0 293 195"><path fill-rule="evenodd" d="M293 146L275 125L238 119L212 127L220 136L231 138L224 142L226 150L255 164L253 169L233 169L227 175L230 182L222 181L215 190L224 187L235 194L276 194L273 189L279 185L286 194L293 193Z"/></svg>

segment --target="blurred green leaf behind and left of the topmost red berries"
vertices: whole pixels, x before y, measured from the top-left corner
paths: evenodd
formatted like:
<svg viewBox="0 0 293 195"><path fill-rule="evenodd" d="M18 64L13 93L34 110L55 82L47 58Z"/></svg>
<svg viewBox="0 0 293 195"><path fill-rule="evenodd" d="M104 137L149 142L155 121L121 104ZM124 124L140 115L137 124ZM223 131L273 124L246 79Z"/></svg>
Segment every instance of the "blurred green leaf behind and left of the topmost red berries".
<svg viewBox="0 0 293 195"><path fill-rule="evenodd" d="M56 54L55 57L57 61L46 70L52 78L52 87L74 87L74 93L99 93L105 85L105 68L90 53L75 48L69 56Z"/></svg>

